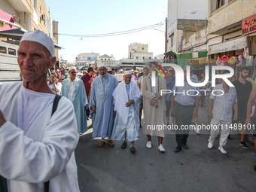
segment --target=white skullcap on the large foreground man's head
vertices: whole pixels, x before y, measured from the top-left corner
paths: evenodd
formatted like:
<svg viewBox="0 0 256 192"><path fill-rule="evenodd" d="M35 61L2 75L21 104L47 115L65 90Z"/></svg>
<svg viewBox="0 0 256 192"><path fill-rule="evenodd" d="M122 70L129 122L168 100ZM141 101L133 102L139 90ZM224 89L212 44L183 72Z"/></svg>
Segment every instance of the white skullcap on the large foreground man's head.
<svg viewBox="0 0 256 192"><path fill-rule="evenodd" d="M47 36L44 32L38 29L36 29L35 32L34 31L25 32L23 37L20 39L20 43L22 41L34 41L34 42L37 42L38 44L42 44L44 45L44 47L47 48L47 50L49 50L50 55L54 56L53 40L49 36Z"/></svg>

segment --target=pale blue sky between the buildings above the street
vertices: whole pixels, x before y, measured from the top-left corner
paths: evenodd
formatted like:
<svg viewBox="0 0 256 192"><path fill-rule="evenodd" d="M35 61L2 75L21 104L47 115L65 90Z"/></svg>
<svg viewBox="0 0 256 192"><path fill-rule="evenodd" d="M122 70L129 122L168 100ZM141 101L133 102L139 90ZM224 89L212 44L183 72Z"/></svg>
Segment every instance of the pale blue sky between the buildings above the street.
<svg viewBox="0 0 256 192"><path fill-rule="evenodd" d="M59 33L93 35L120 32L164 22L168 0L45 0L52 20L59 22ZM165 26L156 29L165 31ZM59 35L59 57L75 61L79 53L111 54L115 59L128 57L128 46L134 42L148 44L154 56L164 53L164 32L148 29L142 32L102 38Z"/></svg>

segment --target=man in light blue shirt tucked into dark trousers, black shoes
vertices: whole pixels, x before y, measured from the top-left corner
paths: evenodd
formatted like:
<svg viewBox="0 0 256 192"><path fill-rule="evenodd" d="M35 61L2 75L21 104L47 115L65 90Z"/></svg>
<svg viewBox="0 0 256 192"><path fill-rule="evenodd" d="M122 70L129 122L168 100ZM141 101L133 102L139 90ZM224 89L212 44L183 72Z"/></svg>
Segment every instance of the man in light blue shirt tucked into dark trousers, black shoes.
<svg viewBox="0 0 256 192"><path fill-rule="evenodd" d="M175 114L175 124L178 126L178 130L175 132L176 142L178 144L175 148L175 153L181 151L181 147L188 149L187 138L189 134L189 126L192 121L192 117L197 117L198 105L200 101L200 89L199 87L192 87L187 83L187 72L190 68L190 77L192 75L191 66L184 66L184 87L174 87L172 95L172 113ZM191 79L194 82L193 79ZM197 83L197 82L194 82ZM196 107L194 110L194 104Z"/></svg>

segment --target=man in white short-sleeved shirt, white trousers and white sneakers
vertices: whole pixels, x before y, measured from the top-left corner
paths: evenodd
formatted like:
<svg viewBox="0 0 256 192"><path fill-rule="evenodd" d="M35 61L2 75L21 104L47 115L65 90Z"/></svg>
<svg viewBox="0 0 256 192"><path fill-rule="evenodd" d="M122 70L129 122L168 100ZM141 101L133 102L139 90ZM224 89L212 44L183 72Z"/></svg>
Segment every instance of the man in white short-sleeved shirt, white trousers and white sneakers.
<svg viewBox="0 0 256 192"><path fill-rule="evenodd" d="M230 78L227 78L230 81ZM238 105L236 88L229 87L229 85L222 81L212 90L215 95L211 95L209 99L209 117L212 118L212 130L209 138L208 148L212 148L215 138L218 136L219 129L221 129L220 145L218 150L221 154L227 154L223 146L227 143L227 137L230 134L230 125L232 123L232 108L235 109L233 120L238 117ZM222 94L222 95L221 95ZM212 100L215 100L212 111Z"/></svg>

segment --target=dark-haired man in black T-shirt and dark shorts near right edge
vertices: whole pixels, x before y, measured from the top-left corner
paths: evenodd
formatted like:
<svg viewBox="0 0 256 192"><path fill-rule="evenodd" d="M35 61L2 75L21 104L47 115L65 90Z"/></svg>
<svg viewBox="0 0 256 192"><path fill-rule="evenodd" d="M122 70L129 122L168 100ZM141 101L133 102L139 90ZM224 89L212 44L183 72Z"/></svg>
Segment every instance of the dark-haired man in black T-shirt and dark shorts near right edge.
<svg viewBox="0 0 256 192"><path fill-rule="evenodd" d="M233 81L233 85L236 87L236 94L237 94L237 101L238 101L238 119L233 120L233 126L238 126L238 123L241 123L242 125L245 124L246 115L247 115L247 104L248 99L250 97L250 93L252 90L252 85L249 81L246 80L248 78L248 74L250 72L250 69L247 67L242 67L240 69L240 78L236 81ZM243 129L240 131L241 133L241 140L239 145L242 146L242 148L248 148L246 143L244 142L245 139L245 126L243 126Z"/></svg>

